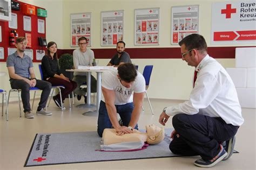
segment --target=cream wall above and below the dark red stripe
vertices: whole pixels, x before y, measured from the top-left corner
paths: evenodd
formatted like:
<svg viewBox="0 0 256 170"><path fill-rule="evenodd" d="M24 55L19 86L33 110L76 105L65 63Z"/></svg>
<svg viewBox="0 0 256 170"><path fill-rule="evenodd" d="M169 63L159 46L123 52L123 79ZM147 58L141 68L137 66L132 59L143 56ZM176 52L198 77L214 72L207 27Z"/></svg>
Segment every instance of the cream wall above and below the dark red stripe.
<svg viewBox="0 0 256 170"><path fill-rule="evenodd" d="M218 0L220 2L221 0ZM223 0L222 0L223 1ZM171 7L177 5L199 4L199 33L202 34L208 46L211 42L211 8L215 1L189 1L189 0L22 0L22 2L41 6L48 11L46 18L46 38L48 41L57 42L60 49L70 47L70 14L80 12L92 12L92 47L111 48L100 46L100 12L112 10L124 10L124 41L126 48L158 48L178 47L171 45ZM216 1L217 2L217 1ZM160 45L159 46L134 46L134 9L160 8ZM252 46L245 44L237 46ZM216 45L215 45L216 46ZM218 45L233 46L233 45ZM228 54L227 54L228 55ZM171 56L171 54L170 54ZM97 56L95 56L97 59ZM98 56L99 57L99 56ZM159 54L160 57L160 54ZM214 56L213 56L214 57ZM217 57L217 56L215 56ZM110 56L111 58L111 56ZM100 59L99 65L106 65L109 60ZM234 67L234 59L218 59L224 67ZM148 94L152 98L170 98L186 100L192 89L193 67L187 66L181 59L132 59L139 65L142 73L145 65L154 65ZM35 72L39 77L38 63L35 63ZM6 71L6 64L0 63L0 70ZM10 88L9 77L0 77L1 88Z"/></svg>

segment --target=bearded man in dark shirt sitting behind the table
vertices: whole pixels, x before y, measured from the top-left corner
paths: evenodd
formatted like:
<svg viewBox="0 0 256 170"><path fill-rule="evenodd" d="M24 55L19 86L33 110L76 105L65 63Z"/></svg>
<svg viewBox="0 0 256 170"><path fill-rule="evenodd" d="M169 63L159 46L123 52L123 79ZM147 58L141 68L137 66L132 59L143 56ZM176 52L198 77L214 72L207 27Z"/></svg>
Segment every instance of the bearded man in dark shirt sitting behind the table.
<svg viewBox="0 0 256 170"><path fill-rule="evenodd" d="M126 53L124 50L125 50L124 41L118 41L117 53L114 54L114 56L112 57L110 62L107 64L107 66L118 67L119 65L122 65L122 63L132 63L130 59L130 55Z"/></svg>

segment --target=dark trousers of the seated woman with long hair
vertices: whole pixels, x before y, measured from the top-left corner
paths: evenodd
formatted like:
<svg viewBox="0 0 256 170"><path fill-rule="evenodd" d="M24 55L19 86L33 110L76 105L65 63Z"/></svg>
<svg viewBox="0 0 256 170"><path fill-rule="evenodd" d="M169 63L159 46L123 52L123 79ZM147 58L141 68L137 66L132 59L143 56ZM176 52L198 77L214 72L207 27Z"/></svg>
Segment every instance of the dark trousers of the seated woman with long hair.
<svg viewBox="0 0 256 170"><path fill-rule="evenodd" d="M52 86L64 86L65 89L61 89L61 93L62 93L62 102L65 100L65 98L69 97L69 94L76 89L77 87L77 83L75 81L70 80L70 82L63 80L63 79L59 79L56 77L50 77L50 79L47 80L48 82L50 82L52 84ZM56 95L57 98L60 99L59 94Z"/></svg>

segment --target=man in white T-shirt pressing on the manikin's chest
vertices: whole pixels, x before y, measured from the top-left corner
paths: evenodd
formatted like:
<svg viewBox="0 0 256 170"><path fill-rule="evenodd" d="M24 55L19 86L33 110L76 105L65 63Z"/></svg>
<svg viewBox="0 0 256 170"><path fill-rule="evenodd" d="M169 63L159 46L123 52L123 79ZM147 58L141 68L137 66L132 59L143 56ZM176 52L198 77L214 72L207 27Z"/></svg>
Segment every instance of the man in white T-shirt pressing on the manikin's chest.
<svg viewBox="0 0 256 170"><path fill-rule="evenodd" d="M123 63L102 75L102 101L99 105L98 134L106 128L114 128L118 135L138 129L137 122L142 111L145 79L132 63ZM117 113L122 119L120 125Z"/></svg>

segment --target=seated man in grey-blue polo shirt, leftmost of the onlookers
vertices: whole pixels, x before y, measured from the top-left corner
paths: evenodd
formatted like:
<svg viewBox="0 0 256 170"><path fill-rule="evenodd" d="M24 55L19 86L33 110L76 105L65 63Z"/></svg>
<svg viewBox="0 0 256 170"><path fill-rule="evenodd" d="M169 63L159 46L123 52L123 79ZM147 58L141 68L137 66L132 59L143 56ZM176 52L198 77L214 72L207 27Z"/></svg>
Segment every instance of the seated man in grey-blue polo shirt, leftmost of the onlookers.
<svg viewBox="0 0 256 170"><path fill-rule="evenodd" d="M37 87L43 90L36 114L46 116L52 115L51 112L44 110L51 91L51 83L36 79L32 60L28 55L24 54L26 43L25 37L17 38L15 44L17 51L14 54L9 55L7 58L6 67L8 68L10 76L11 88L22 90L21 97L25 118L34 118L34 115L31 113L29 103L30 87Z"/></svg>

